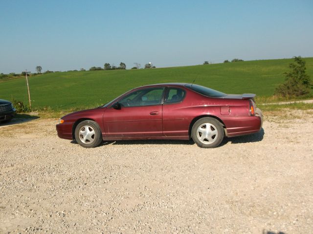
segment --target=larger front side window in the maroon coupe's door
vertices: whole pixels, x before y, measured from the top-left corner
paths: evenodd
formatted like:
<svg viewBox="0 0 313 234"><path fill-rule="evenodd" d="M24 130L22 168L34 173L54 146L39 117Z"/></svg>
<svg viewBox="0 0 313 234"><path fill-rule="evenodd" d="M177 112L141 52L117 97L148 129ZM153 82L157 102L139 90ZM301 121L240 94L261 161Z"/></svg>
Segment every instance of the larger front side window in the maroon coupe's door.
<svg viewBox="0 0 313 234"><path fill-rule="evenodd" d="M152 106L161 104L164 87L137 90L120 99L121 106Z"/></svg>

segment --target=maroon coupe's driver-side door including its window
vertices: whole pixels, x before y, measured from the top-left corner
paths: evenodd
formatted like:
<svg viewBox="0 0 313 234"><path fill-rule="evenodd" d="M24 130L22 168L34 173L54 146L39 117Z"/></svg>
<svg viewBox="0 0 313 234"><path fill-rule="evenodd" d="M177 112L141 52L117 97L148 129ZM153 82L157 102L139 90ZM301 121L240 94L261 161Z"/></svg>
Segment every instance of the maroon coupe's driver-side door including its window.
<svg viewBox="0 0 313 234"><path fill-rule="evenodd" d="M104 113L106 138L162 136L162 98L165 88L136 90L118 100L120 109Z"/></svg>

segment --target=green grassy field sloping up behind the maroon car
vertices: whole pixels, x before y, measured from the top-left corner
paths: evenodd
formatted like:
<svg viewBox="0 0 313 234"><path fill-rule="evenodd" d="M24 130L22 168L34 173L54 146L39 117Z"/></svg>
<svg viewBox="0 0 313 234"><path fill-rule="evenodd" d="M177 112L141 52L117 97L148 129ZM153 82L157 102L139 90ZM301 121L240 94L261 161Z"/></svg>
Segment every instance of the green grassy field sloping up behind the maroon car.
<svg viewBox="0 0 313 234"><path fill-rule="evenodd" d="M305 58L313 79L313 58ZM70 110L104 104L132 88L155 83L196 80L228 94L254 93L266 99L284 82L293 59L258 60L188 67L55 72L29 77L32 106ZM27 103L24 78L0 82L0 98Z"/></svg>

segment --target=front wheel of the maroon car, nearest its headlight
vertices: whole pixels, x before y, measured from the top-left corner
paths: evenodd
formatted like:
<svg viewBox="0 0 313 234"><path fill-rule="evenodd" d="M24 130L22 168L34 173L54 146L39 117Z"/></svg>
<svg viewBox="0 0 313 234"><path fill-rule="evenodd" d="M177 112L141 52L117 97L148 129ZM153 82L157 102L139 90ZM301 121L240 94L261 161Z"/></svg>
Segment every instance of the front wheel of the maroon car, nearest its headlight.
<svg viewBox="0 0 313 234"><path fill-rule="evenodd" d="M97 147L102 142L102 134L99 125L92 120L85 120L77 124L75 139L84 148Z"/></svg>

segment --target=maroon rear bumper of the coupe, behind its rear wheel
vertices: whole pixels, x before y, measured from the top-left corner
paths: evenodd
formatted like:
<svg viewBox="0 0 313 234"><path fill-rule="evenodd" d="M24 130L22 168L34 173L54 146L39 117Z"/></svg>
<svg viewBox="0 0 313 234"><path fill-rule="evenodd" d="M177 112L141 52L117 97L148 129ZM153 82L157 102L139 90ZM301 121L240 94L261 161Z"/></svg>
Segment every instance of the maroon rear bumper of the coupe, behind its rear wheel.
<svg viewBox="0 0 313 234"><path fill-rule="evenodd" d="M257 133L261 130L263 125L263 113L257 108L255 116L247 117L232 117L227 119L231 128L226 128L227 137L236 137L252 133ZM225 123L227 126L228 124Z"/></svg>

